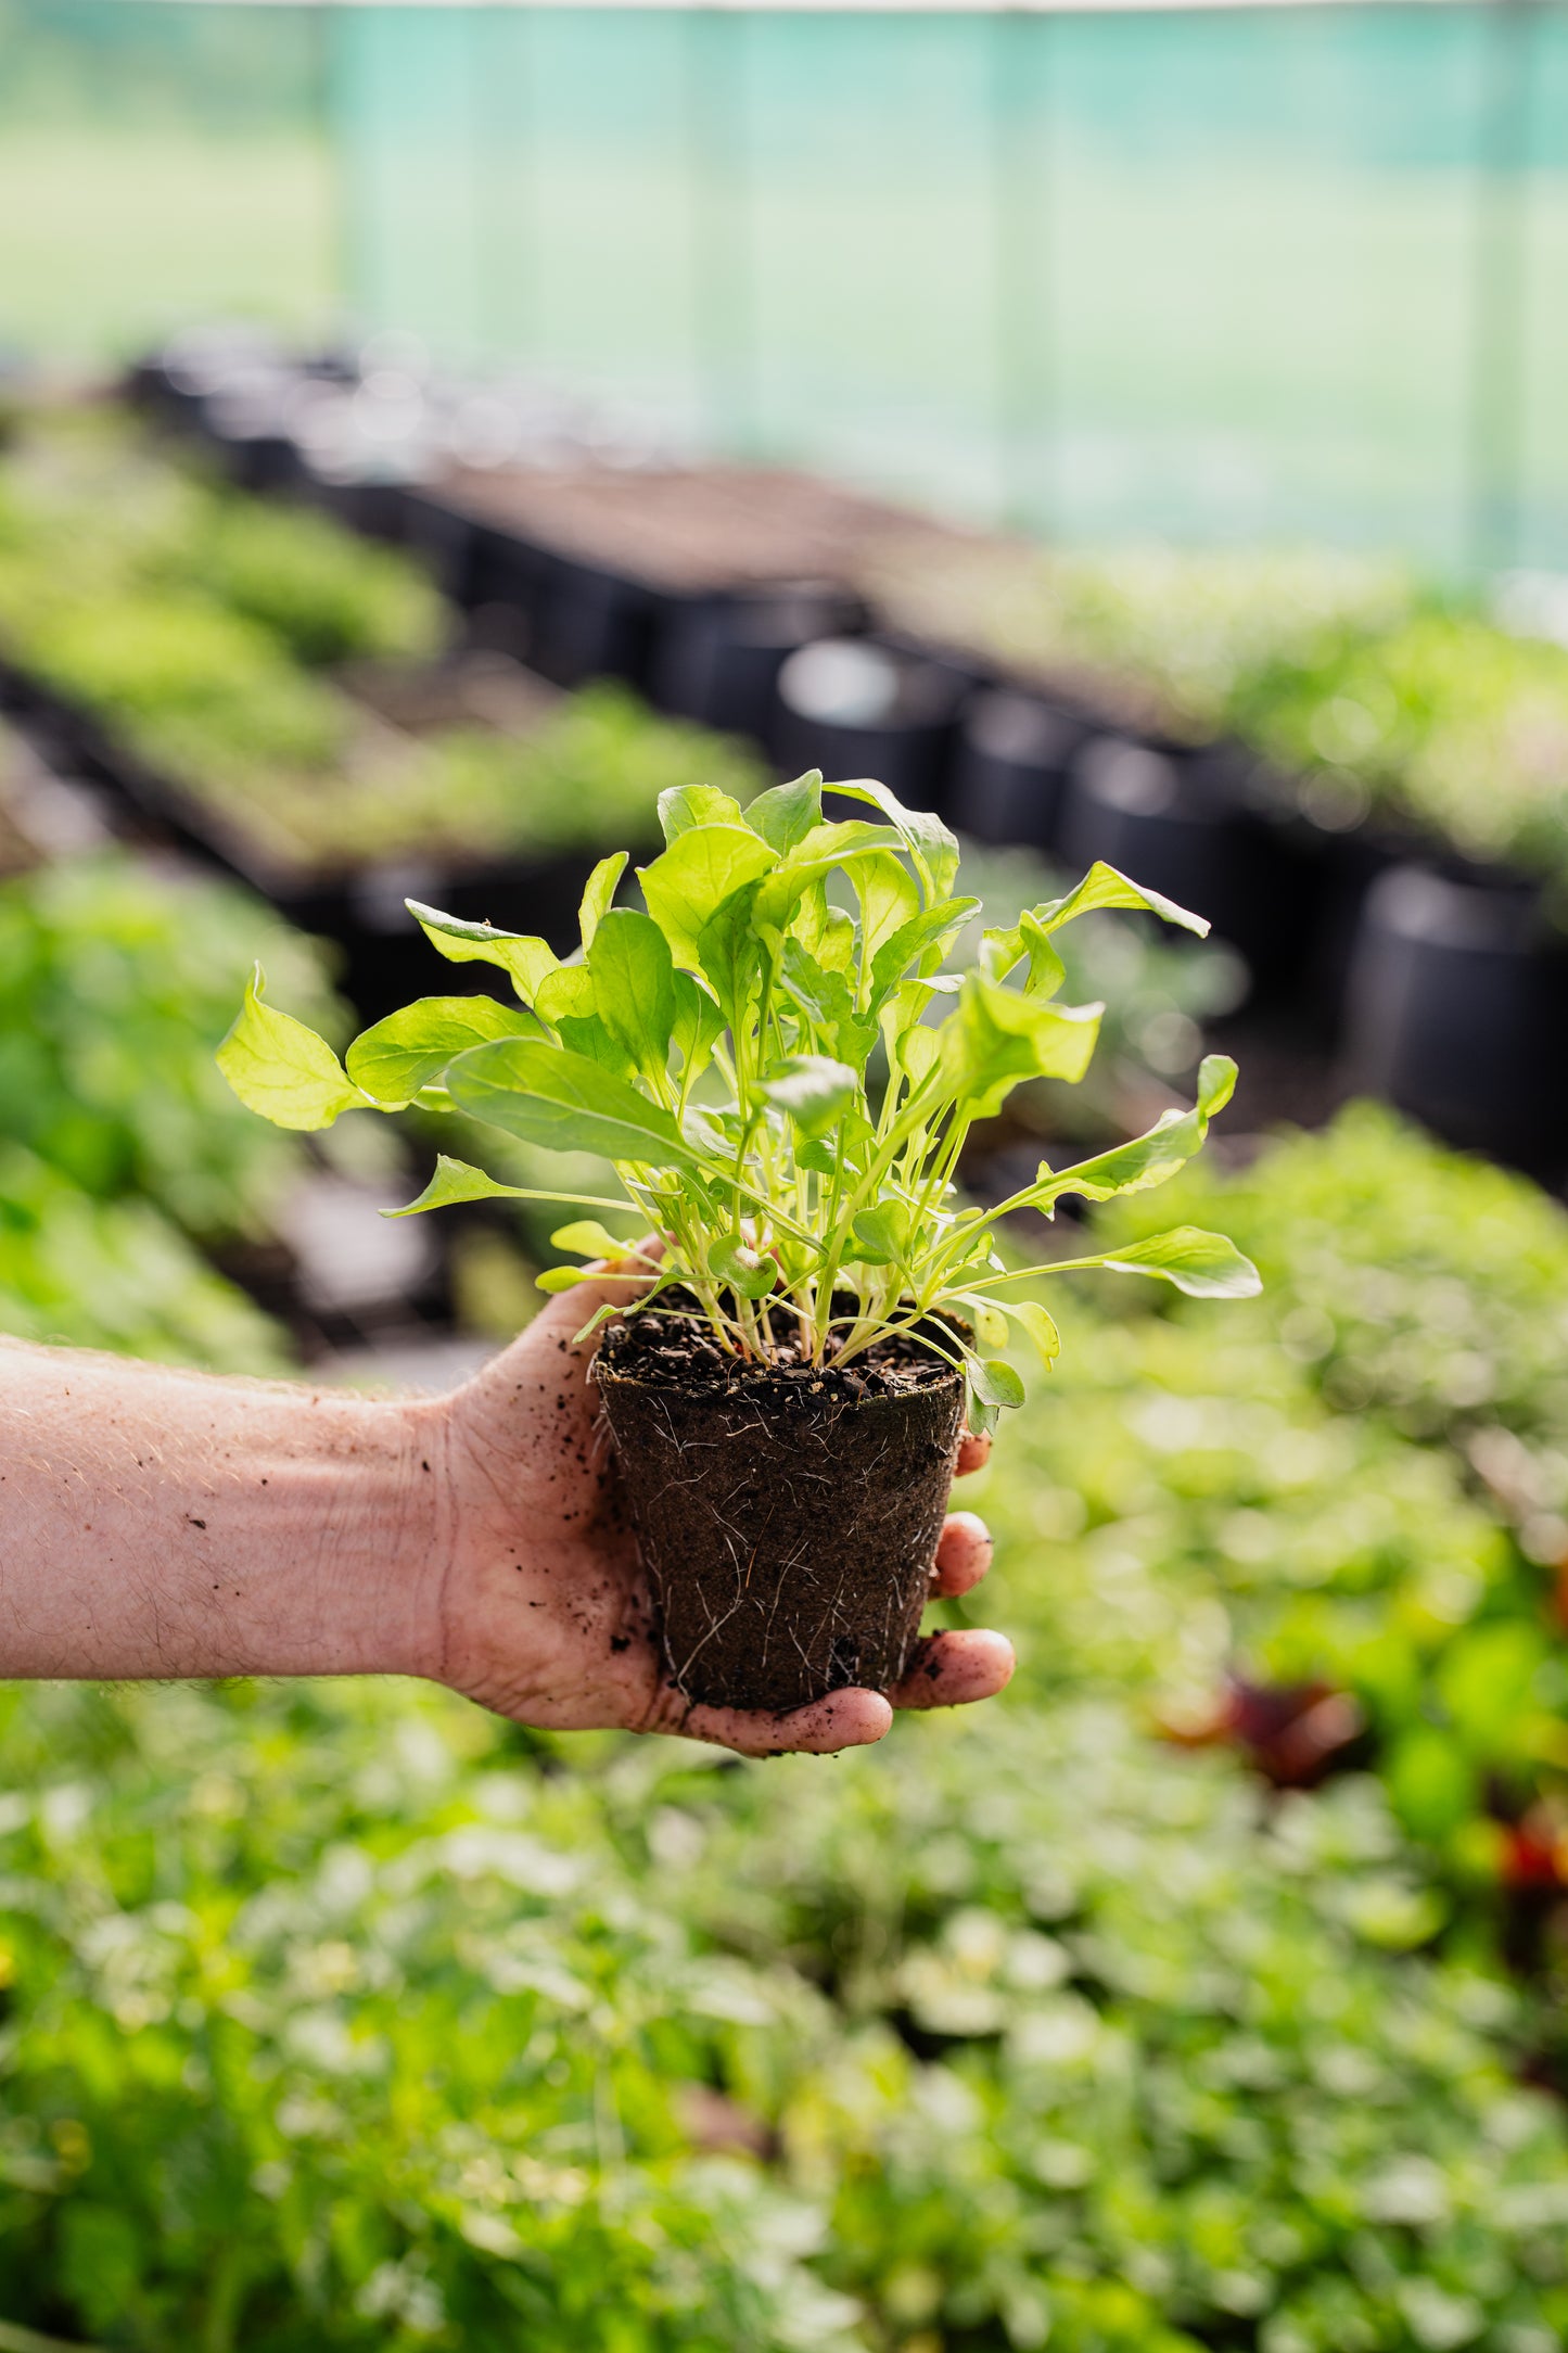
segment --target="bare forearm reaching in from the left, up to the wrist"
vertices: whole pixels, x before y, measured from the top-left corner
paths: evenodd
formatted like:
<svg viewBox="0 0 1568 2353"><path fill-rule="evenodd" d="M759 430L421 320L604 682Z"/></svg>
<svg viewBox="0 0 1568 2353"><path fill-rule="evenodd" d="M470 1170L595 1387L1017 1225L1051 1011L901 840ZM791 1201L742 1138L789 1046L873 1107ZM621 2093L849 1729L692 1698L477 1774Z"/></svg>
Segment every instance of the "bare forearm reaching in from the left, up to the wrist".
<svg viewBox="0 0 1568 2353"><path fill-rule="evenodd" d="M442 1412L0 1341L0 1675L421 1673Z"/></svg>

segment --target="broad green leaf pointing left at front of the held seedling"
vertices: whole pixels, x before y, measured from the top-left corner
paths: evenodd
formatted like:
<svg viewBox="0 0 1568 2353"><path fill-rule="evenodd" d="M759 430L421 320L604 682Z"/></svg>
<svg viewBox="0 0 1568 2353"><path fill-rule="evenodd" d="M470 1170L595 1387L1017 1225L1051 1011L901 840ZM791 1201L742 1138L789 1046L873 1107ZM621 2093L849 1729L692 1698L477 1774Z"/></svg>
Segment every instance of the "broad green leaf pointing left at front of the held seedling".
<svg viewBox="0 0 1568 2353"><path fill-rule="evenodd" d="M599 1153L649 1167L698 1167L668 1111L628 1080L569 1047L501 1038L458 1054L451 1099L475 1120L552 1153Z"/></svg>

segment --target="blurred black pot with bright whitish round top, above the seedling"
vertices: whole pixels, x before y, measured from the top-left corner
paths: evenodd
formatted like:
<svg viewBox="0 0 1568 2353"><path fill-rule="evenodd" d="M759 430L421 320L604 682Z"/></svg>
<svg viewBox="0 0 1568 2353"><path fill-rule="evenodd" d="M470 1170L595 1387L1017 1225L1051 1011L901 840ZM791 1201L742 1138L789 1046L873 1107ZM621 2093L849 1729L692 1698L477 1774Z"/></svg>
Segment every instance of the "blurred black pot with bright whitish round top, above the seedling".
<svg viewBox="0 0 1568 2353"><path fill-rule="evenodd" d="M971 687L877 638L818 638L783 664L769 751L785 774L877 776L910 809L940 812Z"/></svg>

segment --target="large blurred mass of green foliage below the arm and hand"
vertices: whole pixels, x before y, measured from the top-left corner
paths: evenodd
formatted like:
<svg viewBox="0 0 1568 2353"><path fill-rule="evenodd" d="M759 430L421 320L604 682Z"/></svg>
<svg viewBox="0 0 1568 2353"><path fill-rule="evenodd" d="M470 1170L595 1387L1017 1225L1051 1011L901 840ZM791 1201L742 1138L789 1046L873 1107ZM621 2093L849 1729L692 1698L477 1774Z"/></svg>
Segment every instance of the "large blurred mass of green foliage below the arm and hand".
<svg viewBox="0 0 1568 2353"><path fill-rule="evenodd" d="M1366 1784L1260 1821L1091 1699L766 1769L331 1685L12 1694L0 1746L0 2294L33 2327L1568 2325L1568 2129L1509 2082L1516 1998L1389 1953L1425 1894Z"/></svg>

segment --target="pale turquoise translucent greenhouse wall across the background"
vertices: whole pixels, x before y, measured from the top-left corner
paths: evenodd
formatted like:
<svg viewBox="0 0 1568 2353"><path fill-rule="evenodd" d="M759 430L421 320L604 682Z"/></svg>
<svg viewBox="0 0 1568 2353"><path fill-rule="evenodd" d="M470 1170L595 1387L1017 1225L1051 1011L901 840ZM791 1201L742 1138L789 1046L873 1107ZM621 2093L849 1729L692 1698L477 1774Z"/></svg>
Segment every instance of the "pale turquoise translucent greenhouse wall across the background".
<svg viewBox="0 0 1568 2353"><path fill-rule="evenodd" d="M1568 567L1556 0L12 0L0 21L52 47L56 113L68 52L89 80L110 24L136 87L162 75L259 308L331 285L355 325L604 398L672 445L1070 539ZM226 141L214 73L219 115L244 115ZM320 125L329 174L306 169ZM235 179L266 139L296 146L270 240L240 233Z"/></svg>

